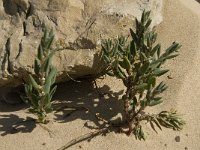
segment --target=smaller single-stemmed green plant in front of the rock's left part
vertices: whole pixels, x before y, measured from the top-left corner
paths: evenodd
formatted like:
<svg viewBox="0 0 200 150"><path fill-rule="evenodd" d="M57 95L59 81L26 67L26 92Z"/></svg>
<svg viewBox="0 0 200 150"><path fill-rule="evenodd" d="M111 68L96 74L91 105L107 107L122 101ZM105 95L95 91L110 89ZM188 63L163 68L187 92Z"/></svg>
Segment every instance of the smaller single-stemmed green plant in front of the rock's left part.
<svg viewBox="0 0 200 150"><path fill-rule="evenodd" d="M51 112L51 99L56 91L53 86L56 79L56 68L52 65L52 57L56 49L51 45L54 40L53 30L45 28L34 62L34 75L29 74L29 82L25 84L25 95L22 99L30 105L29 111L36 114L40 123L47 122L47 113Z"/></svg>

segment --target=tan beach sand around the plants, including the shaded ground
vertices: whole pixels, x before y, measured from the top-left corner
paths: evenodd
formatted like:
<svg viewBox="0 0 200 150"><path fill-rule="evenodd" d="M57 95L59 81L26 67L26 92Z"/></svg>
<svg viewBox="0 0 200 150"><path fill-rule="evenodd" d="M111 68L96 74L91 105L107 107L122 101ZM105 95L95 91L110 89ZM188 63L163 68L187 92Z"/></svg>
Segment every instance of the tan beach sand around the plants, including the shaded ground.
<svg viewBox="0 0 200 150"><path fill-rule="evenodd" d="M156 134L145 125L146 141L138 141L134 135L126 136L110 132L90 141L83 141L69 150L200 150L200 4L195 0L164 0L164 21L157 27L158 39L163 48L173 41L182 44L180 56L168 62L172 79L163 77L169 88L163 95L164 103L152 108L155 112L177 109L183 114L186 125L182 131L163 129ZM47 125L27 122L16 125L28 117L24 105L0 104L0 150L56 150L70 140L96 131L99 127L95 113L111 119L121 110L120 99L123 84L106 77L97 80L100 97L91 81L68 82L59 85L54 106L76 106L83 109L63 118L56 113ZM85 111L87 108L89 111ZM73 109L64 111L70 113ZM47 127L51 133L44 129ZM15 130L17 129L17 130Z"/></svg>

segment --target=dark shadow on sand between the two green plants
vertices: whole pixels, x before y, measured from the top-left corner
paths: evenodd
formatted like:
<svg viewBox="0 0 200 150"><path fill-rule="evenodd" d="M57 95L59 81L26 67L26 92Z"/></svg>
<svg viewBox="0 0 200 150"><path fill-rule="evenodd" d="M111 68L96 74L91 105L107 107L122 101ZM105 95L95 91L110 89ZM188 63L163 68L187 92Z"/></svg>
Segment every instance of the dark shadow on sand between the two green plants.
<svg viewBox="0 0 200 150"><path fill-rule="evenodd" d="M55 104L54 108L63 106L64 115L55 113L55 120L65 123L82 119L86 121L85 127L99 129L104 125L99 123L95 114L99 113L106 120L116 118L118 113L123 111L119 100L121 94L123 91L113 92L108 85L96 89L94 82L90 80L60 84L55 94L59 103ZM94 126L89 126L87 122L94 123Z"/></svg>

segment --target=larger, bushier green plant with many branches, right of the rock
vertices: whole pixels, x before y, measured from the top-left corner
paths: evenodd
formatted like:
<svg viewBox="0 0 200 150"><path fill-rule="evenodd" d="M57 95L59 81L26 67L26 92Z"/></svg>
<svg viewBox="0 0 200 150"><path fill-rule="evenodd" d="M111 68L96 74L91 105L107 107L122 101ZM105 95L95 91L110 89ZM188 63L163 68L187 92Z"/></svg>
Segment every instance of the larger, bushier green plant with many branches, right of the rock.
<svg viewBox="0 0 200 150"><path fill-rule="evenodd" d="M157 78L169 71L162 66L167 60L178 56L178 49L181 47L173 42L161 53L161 45L155 44L157 33L150 29L151 22L150 11L144 11L141 20L136 19L136 31L130 29L130 43L128 38L123 36L102 42L103 58L107 64L106 73L121 79L126 87L122 100L127 134L134 133L139 140L145 139L142 121L149 122L154 131L155 126L159 129L164 126L180 130L185 124L176 111L162 111L159 114L144 111L146 107L163 102L159 95L167 86L164 82L157 84Z"/></svg>

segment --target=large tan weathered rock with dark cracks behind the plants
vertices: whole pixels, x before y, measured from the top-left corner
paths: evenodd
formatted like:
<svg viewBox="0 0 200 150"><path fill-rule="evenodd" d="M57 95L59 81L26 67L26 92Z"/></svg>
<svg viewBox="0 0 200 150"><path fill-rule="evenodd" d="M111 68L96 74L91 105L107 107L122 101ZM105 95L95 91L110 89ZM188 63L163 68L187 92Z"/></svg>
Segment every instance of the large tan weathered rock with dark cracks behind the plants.
<svg viewBox="0 0 200 150"><path fill-rule="evenodd" d="M1 0L0 87L20 85L33 71L45 25L68 46L54 58L59 81L95 74L101 39L128 33L144 9L152 26L162 21L162 0Z"/></svg>

